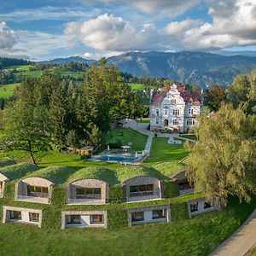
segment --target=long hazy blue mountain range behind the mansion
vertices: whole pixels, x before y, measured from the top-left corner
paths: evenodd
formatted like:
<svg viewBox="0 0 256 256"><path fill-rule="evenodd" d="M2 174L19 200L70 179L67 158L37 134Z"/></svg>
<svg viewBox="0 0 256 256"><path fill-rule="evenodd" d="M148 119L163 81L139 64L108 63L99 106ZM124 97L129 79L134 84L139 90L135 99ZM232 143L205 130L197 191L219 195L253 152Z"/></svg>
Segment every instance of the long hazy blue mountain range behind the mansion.
<svg viewBox="0 0 256 256"><path fill-rule="evenodd" d="M185 84L211 84L227 87L239 73L256 68L256 57L224 56L205 52L128 52L107 59L122 72L137 77L163 77Z"/></svg>

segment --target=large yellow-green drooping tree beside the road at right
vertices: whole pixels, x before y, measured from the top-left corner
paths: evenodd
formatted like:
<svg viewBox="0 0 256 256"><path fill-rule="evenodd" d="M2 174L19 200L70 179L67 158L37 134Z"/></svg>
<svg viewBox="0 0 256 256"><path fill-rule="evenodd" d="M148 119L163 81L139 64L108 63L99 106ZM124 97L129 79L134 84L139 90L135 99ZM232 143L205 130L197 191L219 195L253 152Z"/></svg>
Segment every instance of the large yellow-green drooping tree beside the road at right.
<svg viewBox="0 0 256 256"><path fill-rule="evenodd" d="M246 114L230 104L202 117L195 131L199 140L185 164L195 190L207 199L218 199L225 206L228 195L249 201L256 191L256 143L248 135L250 128Z"/></svg>

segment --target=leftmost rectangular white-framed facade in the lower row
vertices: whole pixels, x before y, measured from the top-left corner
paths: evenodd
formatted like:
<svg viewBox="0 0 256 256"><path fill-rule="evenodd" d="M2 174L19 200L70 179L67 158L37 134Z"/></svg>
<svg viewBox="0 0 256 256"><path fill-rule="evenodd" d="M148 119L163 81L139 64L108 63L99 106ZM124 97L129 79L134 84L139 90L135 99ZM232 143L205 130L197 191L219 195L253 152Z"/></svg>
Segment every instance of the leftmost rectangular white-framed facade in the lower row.
<svg viewBox="0 0 256 256"><path fill-rule="evenodd" d="M21 207L3 207L3 223L35 224L42 226L42 210Z"/></svg>

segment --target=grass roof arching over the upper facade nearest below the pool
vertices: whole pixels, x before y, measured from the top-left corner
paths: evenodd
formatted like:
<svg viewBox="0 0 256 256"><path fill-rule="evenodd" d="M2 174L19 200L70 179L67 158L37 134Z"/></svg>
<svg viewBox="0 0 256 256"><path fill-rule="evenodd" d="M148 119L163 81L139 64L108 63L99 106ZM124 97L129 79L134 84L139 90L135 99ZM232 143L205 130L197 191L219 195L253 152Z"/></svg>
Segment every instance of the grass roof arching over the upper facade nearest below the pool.
<svg viewBox="0 0 256 256"><path fill-rule="evenodd" d="M160 180L165 178L160 172L154 170L154 168L144 166L124 166L119 168L117 172L120 183L124 183L127 179L137 176L157 177Z"/></svg>

